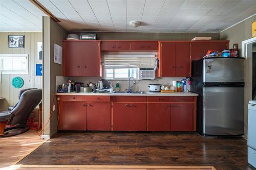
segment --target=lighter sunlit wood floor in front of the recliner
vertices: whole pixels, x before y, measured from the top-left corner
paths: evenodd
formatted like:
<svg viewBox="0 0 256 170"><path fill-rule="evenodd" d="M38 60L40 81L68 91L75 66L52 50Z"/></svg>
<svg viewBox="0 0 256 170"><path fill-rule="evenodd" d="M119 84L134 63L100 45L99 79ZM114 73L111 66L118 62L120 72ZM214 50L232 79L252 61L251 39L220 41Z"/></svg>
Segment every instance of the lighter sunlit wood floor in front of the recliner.
<svg viewBox="0 0 256 170"><path fill-rule="evenodd" d="M0 138L0 168L14 164L45 141L37 135L35 130L29 130L12 137Z"/></svg>

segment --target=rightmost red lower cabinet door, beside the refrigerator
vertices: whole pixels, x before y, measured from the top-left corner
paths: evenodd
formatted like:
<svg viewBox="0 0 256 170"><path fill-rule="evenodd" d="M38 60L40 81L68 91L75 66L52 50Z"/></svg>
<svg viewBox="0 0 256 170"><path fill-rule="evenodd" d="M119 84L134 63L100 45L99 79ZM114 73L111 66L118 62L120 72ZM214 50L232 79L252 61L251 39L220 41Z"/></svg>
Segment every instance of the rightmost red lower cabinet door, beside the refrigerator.
<svg viewBox="0 0 256 170"><path fill-rule="evenodd" d="M193 131L193 104L171 104L171 131Z"/></svg>

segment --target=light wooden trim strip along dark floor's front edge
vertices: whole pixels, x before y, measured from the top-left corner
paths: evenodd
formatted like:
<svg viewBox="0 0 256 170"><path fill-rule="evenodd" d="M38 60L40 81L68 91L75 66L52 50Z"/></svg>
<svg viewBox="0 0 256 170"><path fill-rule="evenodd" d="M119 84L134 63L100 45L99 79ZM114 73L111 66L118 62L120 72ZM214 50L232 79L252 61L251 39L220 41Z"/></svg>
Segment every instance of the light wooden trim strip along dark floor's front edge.
<svg viewBox="0 0 256 170"><path fill-rule="evenodd" d="M212 169L217 170L214 166L157 166L157 165L16 165L19 168L130 168L130 169ZM15 167L15 166L14 166Z"/></svg>

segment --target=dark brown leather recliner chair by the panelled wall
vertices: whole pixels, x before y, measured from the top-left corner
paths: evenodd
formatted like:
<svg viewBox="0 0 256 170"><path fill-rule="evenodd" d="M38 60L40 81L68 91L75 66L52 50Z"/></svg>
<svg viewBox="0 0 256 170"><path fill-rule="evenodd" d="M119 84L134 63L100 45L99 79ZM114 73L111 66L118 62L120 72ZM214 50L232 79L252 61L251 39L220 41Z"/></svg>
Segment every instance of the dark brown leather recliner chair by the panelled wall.
<svg viewBox="0 0 256 170"><path fill-rule="evenodd" d="M9 110L0 111L0 137L8 137L29 130L27 119L42 100L42 89L20 90L18 102ZM7 125L10 125L6 128Z"/></svg>

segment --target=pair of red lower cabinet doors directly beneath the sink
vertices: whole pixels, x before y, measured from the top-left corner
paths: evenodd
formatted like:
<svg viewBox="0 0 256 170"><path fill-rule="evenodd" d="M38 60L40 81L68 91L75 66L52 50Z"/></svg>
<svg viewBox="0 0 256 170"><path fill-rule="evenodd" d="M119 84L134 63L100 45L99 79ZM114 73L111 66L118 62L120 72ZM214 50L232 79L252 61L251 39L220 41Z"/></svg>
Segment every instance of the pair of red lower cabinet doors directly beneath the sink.
<svg viewBox="0 0 256 170"><path fill-rule="evenodd" d="M113 131L145 131L146 104L113 102L112 120Z"/></svg>

